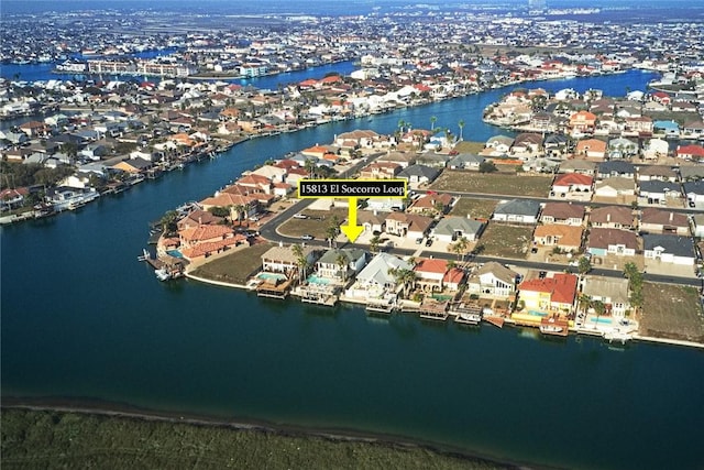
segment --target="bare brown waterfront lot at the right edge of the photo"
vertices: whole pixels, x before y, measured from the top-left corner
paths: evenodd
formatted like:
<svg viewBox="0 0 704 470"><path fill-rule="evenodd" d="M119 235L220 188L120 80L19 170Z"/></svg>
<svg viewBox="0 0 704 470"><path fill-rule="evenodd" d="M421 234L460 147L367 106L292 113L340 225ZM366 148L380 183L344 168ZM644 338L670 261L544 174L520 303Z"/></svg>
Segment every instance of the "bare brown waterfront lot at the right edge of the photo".
<svg viewBox="0 0 704 470"><path fill-rule="evenodd" d="M704 342L704 316L694 287L645 283L642 336Z"/></svg>

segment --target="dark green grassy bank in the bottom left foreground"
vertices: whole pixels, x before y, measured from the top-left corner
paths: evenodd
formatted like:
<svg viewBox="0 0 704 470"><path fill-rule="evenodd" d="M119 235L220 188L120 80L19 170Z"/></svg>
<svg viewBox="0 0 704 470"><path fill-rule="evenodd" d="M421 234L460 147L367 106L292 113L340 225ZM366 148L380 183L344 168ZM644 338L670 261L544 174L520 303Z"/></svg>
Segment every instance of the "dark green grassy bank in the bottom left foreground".
<svg viewBox="0 0 704 470"><path fill-rule="evenodd" d="M51 411L2 409L3 469L501 469L428 448Z"/></svg>

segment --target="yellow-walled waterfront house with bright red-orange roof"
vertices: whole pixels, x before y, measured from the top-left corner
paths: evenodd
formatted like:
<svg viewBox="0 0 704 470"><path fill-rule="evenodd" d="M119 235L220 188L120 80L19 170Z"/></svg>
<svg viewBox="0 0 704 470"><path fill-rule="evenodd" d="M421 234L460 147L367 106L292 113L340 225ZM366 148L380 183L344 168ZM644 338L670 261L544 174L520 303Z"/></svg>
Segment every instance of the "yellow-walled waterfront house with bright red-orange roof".
<svg viewBox="0 0 704 470"><path fill-rule="evenodd" d="M552 277L526 280L518 286L524 310L570 314L574 308L578 276L554 273Z"/></svg>

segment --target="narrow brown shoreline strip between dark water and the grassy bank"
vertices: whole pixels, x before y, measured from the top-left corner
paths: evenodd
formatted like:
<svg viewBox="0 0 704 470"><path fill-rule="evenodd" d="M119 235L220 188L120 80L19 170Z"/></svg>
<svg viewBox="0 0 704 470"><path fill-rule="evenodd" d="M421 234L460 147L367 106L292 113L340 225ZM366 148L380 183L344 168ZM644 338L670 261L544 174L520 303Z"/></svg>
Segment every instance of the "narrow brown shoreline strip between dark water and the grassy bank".
<svg viewBox="0 0 704 470"><path fill-rule="evenodd" d="M483 460L504 468L527 468L526 462L512 462L494 456L470 453L462 449L443 446L436 442L414 440L393 435L374 435L371 433L355 431L353 429L319 429L300 426L273 424L254 419L224 419L215 416L198 416L187 413L153 411L140 408L121 403L103 402L98 400L74 400L61 397L24 398L16 396L2 397L2 409L24 409L31 412L57 412L73 413L87 416L100 416L106 418L134 419L142 422L185 424L189 426L207 426L231 429L233 431L246 430L255 433L274 433L284 437L310 437L328 439L339 442L362 442L378 445L389 448L418 448L432 451L438 455L454 457L464 460ZM528 464L532 466L532 464ZM539 466L544 468L543 466Z"/></svg>

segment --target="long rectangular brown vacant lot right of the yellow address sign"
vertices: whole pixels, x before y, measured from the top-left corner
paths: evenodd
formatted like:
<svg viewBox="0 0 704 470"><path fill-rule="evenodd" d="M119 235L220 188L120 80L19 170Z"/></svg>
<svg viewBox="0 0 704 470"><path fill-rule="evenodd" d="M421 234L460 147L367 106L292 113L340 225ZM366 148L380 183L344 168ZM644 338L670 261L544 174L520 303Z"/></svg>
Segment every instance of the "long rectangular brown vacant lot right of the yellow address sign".
<svg viewBox="0 0 704 470"><path fill-rule="evenodd" d="M551 176L446 170L430 187L438 190L548 197L551 185Z"/></svg>

